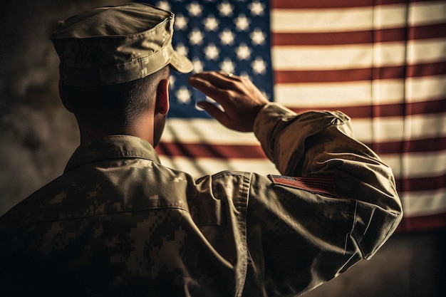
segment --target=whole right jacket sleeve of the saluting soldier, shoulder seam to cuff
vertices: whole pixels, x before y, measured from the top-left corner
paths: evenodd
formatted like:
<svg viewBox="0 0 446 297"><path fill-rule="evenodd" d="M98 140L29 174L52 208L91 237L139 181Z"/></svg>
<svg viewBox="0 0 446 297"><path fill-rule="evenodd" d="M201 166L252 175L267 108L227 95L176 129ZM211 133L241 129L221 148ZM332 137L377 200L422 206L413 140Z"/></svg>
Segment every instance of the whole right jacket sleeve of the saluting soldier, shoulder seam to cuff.
<svg viewBox="0 0 446 297"><path fill-rule="evenodd" d="M393 234L403 215L393 173L351 137L347 115L271 103L254 132L284 174L251 177L249 277L263 291L308 291L370 259Z"/></svg>

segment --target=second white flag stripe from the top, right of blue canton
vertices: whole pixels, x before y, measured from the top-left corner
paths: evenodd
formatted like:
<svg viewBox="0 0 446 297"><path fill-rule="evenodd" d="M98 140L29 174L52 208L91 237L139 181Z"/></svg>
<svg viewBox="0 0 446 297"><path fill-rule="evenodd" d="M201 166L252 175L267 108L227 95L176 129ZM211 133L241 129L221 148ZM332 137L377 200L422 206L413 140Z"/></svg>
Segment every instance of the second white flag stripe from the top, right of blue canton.
<svg viewBox="0 0 446 297"><path fill-rule="evenodd" d="M406 62L419 64L446 61L445 48L445 38L417 39L408 41L407 44L405 41L393 41L373 45L274 46L271 48L271 63L276 71L328 71L401 66Z"/></svg>

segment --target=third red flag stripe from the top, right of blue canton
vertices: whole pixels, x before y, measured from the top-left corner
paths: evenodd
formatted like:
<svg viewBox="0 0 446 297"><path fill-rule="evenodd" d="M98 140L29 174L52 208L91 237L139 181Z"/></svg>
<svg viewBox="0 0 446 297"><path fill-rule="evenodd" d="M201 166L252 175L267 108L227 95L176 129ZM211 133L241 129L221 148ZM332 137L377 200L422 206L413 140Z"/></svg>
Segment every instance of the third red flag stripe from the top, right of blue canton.
<svg viewBox="0 0 446 297"><path fill-rule="evenodd" d="M331 71L274 71L274 83L338 83L371 79L392 79L442 75L446 61L408 66L380 68L339 69Z"/></svg>

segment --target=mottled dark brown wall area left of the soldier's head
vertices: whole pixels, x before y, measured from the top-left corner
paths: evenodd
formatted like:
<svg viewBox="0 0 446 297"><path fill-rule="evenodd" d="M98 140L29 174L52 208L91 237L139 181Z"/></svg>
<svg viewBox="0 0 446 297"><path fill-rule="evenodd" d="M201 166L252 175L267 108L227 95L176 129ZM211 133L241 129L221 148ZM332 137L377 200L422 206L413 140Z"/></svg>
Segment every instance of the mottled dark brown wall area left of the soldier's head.
<svg viewBox="0 0 446 297"><path fill-rule="evenodd" d="M58 97L57 21L125 1L14 0L0 4L0 215L63 172L78 145Z"/></svg>

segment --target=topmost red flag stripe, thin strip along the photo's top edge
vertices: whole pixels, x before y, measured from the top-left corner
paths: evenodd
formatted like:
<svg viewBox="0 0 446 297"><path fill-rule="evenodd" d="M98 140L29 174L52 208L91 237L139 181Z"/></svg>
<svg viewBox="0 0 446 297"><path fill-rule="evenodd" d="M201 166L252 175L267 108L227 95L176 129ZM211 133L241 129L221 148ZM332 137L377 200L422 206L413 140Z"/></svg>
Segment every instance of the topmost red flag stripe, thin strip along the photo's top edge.
<svg viewBox="0 0 446 297"><path fill-rule="evenodd" d="M429 0L271 0L271 9L341 9L348 7L377 6L386 4L405 4L408 2L422 2Z"/></svg>

